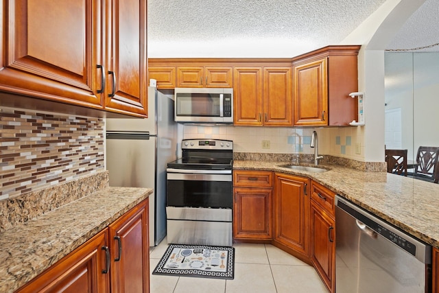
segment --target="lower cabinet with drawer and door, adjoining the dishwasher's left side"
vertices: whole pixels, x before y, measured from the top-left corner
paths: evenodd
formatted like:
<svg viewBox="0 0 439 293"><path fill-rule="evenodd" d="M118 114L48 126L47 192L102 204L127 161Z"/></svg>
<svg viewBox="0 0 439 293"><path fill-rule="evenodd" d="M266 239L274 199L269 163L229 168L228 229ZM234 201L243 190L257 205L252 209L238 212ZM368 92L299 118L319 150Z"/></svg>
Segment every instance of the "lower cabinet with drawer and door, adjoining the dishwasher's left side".
<svg viewBox="0 0 439 293"><path fill-rule="evenodd" d="M324 285L335 292L335 194L311 182L309 255Z"/></svg>

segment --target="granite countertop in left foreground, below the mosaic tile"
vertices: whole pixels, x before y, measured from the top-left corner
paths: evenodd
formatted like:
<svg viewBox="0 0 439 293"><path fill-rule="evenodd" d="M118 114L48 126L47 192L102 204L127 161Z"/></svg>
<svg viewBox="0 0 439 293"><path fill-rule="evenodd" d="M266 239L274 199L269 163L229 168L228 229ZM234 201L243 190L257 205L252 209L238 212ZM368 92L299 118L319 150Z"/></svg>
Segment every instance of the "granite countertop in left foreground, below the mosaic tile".
<svg viewBox="0 0 439 293"><path fill-rule="evenodd" d="M150 194L106 187L0 233L0 292L14 292Z"/></svg>

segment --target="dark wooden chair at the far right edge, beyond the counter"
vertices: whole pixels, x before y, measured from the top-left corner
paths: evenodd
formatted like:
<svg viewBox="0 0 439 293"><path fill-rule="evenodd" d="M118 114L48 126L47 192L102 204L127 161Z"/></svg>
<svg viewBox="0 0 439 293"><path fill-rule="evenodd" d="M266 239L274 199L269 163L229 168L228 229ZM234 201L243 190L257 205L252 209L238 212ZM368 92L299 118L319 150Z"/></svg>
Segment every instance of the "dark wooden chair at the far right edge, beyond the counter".
<svg viewBox="0 0 439 293"><path fill-rule="evenodd" d="M420 146L418 148L418 153L416 154L416 163L418 163L418 167L414 169L414 178L438 183L438 158L438 147Z"/></svg>

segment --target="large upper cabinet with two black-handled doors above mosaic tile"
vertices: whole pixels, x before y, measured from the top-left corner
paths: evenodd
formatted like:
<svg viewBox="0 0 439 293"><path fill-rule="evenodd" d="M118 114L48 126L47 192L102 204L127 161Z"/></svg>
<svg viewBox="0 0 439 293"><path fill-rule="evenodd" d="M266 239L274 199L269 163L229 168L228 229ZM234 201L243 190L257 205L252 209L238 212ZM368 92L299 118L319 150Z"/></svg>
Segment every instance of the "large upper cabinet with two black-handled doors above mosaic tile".
<svg viewBox="0 0 439 293"><path fill-rule="evenodd" d="M2 5L0 91L145 116L146 0Z"/></svg>

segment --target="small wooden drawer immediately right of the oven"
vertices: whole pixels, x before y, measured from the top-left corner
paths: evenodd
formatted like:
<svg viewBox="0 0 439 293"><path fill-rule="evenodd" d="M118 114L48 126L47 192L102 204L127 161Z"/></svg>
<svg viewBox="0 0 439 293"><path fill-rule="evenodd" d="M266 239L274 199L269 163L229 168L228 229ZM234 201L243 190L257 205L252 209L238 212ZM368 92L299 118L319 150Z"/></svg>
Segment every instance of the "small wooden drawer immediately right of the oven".
<svg viewBox="0 0 439 293"><path fill-rule="evenodd" d="M233 171L235 187L273 187L273 174L270 171Z"/></svg>

